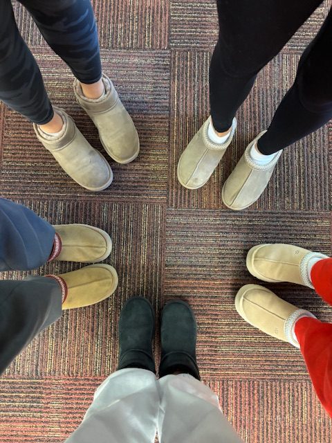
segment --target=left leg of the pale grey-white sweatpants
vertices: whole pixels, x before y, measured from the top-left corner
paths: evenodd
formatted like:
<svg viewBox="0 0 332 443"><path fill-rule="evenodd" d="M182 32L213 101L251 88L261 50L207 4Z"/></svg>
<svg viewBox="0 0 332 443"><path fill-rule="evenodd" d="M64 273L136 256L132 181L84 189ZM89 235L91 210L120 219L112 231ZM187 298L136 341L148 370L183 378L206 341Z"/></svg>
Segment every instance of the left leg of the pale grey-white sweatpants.
<svg viewBox="0 0 332 443"><path fill-rule="evenodd" d="M154 443L158 407L153 372L113 372L95 391L82 423L66 443Z"/></svg>

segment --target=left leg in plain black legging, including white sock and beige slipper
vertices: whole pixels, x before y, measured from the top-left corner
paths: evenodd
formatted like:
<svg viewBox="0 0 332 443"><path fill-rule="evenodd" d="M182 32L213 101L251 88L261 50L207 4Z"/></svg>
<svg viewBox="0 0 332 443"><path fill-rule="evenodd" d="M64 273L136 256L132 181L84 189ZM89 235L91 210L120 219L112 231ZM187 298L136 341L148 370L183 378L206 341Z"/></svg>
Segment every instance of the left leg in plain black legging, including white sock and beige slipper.
<svg viewBox="0 0 332 443"><path fill-rule="evenodd" d="M181 155L178 180L201 188L211 177L232 141L237 109L257 73L292 37L321 0L218 0L219 39L210 65L208 118Z"/></svg>

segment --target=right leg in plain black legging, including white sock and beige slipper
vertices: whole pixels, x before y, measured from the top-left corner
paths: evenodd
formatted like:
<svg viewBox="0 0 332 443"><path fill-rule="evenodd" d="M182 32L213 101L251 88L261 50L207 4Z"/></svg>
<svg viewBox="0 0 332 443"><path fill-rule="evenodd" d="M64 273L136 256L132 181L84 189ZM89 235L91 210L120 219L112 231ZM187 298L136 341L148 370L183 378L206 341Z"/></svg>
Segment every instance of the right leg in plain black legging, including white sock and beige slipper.
<svg viewBox="0 0 332 443"><path fill-rule="evenodd" d="M332 117L332 11L299 62L293 87L268 131L250 143L223 186L223 203L248 208L264 192L284 147L322 127Z"/></svg>

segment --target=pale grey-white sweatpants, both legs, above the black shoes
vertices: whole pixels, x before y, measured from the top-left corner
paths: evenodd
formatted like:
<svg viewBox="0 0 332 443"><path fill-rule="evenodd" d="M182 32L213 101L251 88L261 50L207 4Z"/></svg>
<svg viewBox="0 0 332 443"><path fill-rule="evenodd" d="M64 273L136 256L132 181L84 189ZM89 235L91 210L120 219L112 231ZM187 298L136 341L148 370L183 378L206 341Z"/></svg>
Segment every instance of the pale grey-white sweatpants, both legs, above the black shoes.
<svg viewBox="0 0 332 443"><path fill-rule="evenodd" d="M156 380L127 368L95 391L80 426L65 443L243 443L221 412L218 397L189 374Z"/></svg>

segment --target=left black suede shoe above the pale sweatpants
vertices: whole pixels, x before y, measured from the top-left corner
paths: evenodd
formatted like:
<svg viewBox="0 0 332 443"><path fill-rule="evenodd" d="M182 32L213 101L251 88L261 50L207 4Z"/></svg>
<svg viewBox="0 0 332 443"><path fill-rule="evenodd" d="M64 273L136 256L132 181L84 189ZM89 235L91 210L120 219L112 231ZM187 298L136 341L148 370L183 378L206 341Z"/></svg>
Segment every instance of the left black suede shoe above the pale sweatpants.
<svg viewBox="0 0 332 443"><path fill-rule="evenodd" d="M118 370L142 368L156 373L152 353L154 328L154 309L149 300L129 298L120 314Z"/></svg>

